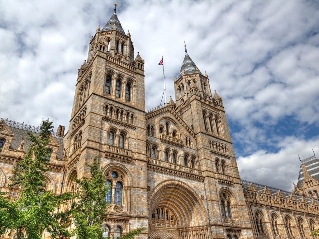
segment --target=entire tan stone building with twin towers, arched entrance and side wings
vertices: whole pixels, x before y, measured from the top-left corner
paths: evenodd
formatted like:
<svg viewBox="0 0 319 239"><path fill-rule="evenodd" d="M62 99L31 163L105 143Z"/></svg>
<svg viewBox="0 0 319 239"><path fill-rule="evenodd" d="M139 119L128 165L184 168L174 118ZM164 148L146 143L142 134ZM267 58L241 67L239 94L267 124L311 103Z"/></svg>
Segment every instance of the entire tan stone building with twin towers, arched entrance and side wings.
<svg viewBox="0 0 319 239"><path fill-rule="evenodd" d="M98 156L111 189L105 237L144 227L138 238L313 238L318 198L241 180L223 100L186 48L174 89L176 102L145 112L144 60L115 10L78 70L68 132L51 137L47 190L75 191L71 176L90 177ZM19 188L8 177L27 130L37 132L0 121L0 187L12 198Z"/></svg>

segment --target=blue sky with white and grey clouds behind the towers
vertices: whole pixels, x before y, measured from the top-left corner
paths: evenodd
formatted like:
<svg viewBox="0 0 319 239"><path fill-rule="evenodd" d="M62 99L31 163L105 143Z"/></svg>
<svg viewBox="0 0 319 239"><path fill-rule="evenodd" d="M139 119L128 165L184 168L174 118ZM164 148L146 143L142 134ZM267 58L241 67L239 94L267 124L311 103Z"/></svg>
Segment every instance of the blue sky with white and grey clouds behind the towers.
<svg viewBox="0 0 319 239"><path fill-rule="evenodd" d="M145 60L146 109L167 95L184 57L223 98L241 178L290 190L319 155L318 1L118 1ZM69 125L77 72L113 1L0 0L0 117Z"/></svg>

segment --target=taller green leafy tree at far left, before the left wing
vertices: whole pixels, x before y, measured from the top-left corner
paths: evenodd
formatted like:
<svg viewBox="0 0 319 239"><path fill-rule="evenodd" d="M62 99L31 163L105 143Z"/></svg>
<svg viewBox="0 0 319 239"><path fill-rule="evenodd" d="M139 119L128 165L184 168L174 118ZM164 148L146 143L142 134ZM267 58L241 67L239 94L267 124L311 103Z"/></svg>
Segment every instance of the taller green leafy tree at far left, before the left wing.
<svg viewBox="0 0 319 239"><path fill-rule="evenodd" d="M10 229L18 239L41 239L44 229L52 238L65 238L70 233L65 229L70 211L56 213L60 204L65 204L73 196L70 193L54 195L43 188L48 144L52 133L52 121L42 120L39 135L28 132L32 142L27 154L17 161L12 170L12 183L20 186L19 199L9 199L0 195L0 235Z"/></svg>

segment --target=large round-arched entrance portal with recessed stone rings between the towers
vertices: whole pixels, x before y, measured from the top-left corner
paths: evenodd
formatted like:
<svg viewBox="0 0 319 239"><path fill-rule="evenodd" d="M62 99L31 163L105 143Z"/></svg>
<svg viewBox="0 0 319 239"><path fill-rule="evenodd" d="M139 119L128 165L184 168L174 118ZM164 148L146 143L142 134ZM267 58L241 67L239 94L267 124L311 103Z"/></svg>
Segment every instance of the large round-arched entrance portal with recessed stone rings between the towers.
<svg viewBox="0 0 319 239"><path fill-rule="evenodd" d="M196 192L178 180L166 180L149 196L151 239L208 239L206 208Z"/></svg>

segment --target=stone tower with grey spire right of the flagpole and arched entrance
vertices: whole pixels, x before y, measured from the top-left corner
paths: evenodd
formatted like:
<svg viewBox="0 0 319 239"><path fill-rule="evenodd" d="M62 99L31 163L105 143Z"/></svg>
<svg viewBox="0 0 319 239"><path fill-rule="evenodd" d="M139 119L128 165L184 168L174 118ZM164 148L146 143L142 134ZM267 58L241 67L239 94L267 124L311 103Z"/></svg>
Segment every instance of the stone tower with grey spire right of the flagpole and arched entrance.
<svg viewBox="0 0 319 239"><path fill-rule="evenodd" d="M197 68L186 45L174 88L175 112L195 134L213 238L224 238L236 230L240 231L237 235L252 238L223 100L216 91L212 96L206 72L203 75Z"/></svg>

